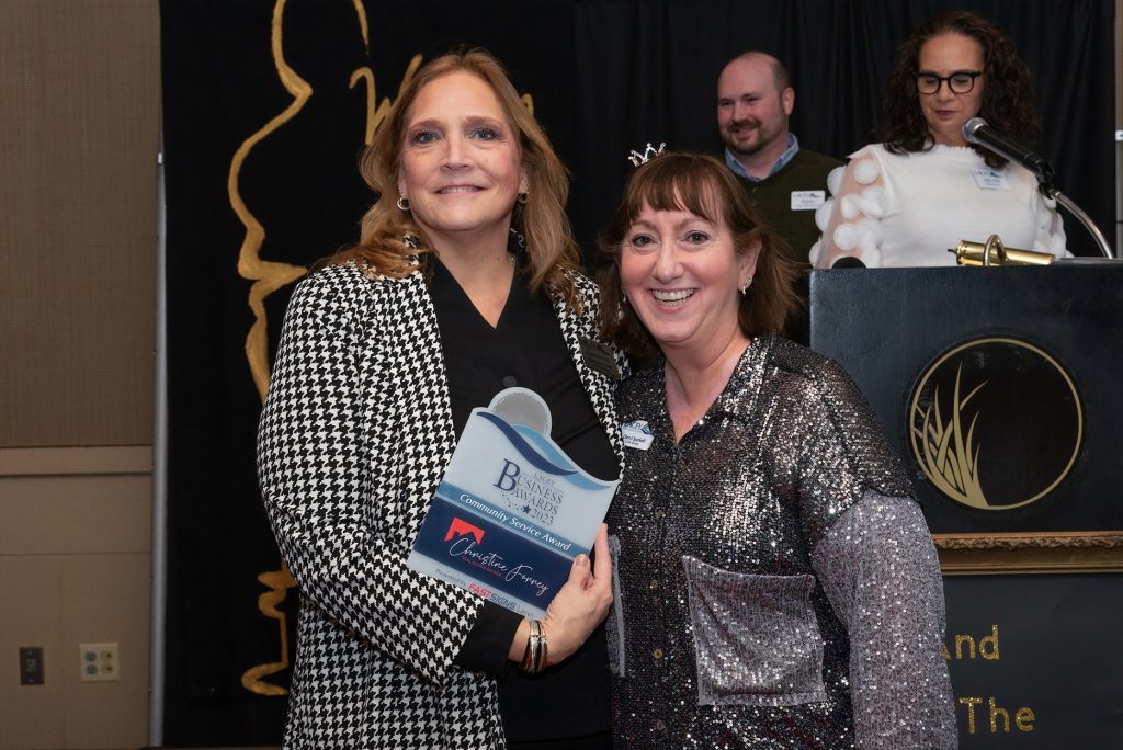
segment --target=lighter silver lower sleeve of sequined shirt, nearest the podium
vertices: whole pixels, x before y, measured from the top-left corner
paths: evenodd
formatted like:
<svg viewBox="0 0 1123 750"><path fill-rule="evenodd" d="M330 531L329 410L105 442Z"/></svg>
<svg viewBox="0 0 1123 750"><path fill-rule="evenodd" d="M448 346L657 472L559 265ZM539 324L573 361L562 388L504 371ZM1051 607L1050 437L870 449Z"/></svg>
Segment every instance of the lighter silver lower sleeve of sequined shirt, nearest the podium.
<svg viewBox="0 0 1123 750"><path fill-rule="evenodd" d="M858 747L955 748L943 583L920 506L867 492L811 562L850 635Z"/></svg>

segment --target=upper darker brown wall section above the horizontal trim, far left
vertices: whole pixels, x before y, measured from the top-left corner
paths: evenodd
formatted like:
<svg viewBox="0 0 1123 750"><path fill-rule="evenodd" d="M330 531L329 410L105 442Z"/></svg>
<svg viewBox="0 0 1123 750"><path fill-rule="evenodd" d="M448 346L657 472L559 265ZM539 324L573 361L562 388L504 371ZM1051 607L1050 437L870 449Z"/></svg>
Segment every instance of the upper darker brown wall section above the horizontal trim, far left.
<svg viewBox="0 0 1123 750"><path fill-rule="evenodd" d="M0 0L0 448L152 442L156 0Z"/></svg>

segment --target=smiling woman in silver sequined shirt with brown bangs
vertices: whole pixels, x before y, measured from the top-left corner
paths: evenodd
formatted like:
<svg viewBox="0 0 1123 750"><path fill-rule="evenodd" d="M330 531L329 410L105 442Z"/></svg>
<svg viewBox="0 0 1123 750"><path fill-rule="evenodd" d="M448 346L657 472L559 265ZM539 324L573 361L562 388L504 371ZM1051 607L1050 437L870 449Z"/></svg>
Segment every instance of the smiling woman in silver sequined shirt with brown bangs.
<svg viewBox="0 0 1123 750"><path fill-rule="evenodd" d="M792 268L715 159L640 166L602 240L617 746L948 748L943 589L857 386L782 330Z"/></svg>

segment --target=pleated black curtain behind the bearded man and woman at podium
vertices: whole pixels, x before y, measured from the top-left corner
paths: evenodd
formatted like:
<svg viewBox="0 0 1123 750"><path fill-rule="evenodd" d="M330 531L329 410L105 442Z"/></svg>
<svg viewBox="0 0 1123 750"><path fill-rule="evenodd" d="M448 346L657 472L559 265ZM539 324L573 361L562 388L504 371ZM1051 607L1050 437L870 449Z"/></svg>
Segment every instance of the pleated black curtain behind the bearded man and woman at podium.
<svg viewBox="0 0 1123 750"><path fill-rule="evenodd" d="M725 62L763 49L787 64L792 130L814 150L846 156L876 141L880 97L897 45L935 12L967 8L1017 45L1034 81L1041 153L1058 184L1105 235L1114 227L1114 11L1111 2L1023 0L780 0L585 2L576 7L579 148L574 220L595 237L648 140L720 153L715 86ZM1070 248L1095 246L1066 216ZM1111 239L1110 241L1114 241ZM591 245L590 245L591 247Z"/></svg>

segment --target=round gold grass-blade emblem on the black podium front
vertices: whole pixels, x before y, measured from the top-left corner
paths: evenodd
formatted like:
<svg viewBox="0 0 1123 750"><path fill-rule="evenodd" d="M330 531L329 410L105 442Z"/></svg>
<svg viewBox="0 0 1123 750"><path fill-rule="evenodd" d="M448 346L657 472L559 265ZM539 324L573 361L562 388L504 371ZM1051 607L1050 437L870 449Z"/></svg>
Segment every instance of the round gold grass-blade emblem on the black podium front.
<svg viewBox="0 0 1123 750"><path fill-rule="evenodd" d="M1015 338L979 338L940 355L909 403L913 458L949 500L985 511L1034 503L1076 463L1080 395L1065 368Z"/></svg>

